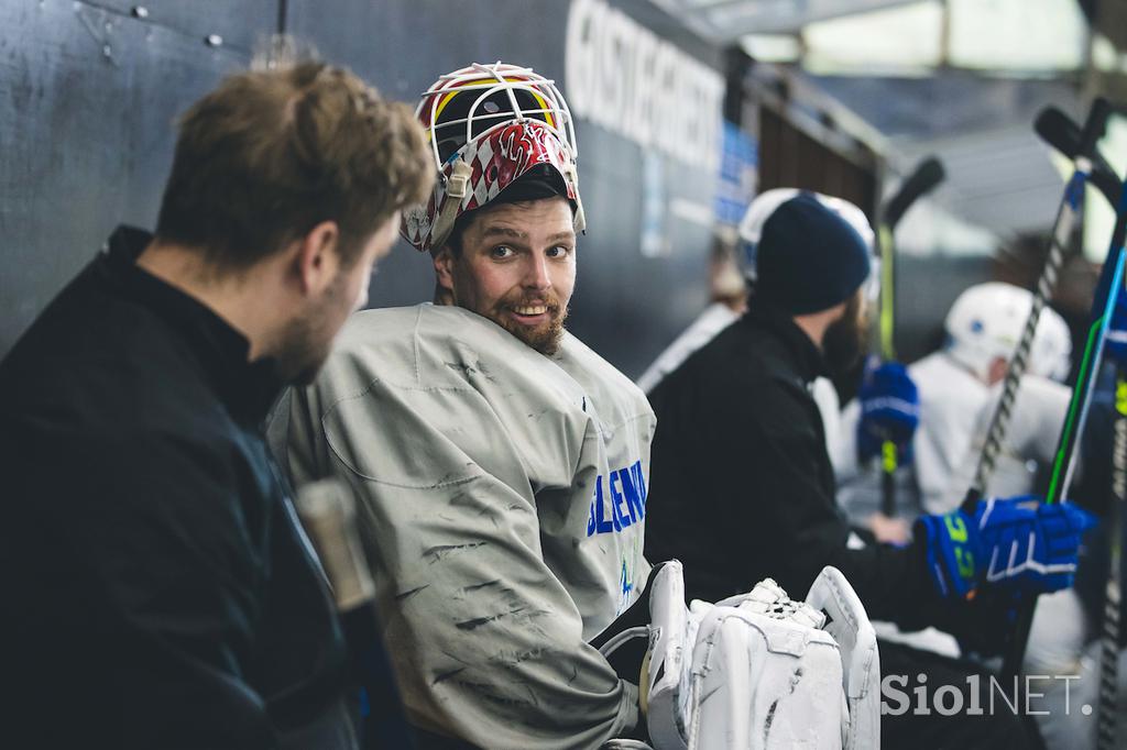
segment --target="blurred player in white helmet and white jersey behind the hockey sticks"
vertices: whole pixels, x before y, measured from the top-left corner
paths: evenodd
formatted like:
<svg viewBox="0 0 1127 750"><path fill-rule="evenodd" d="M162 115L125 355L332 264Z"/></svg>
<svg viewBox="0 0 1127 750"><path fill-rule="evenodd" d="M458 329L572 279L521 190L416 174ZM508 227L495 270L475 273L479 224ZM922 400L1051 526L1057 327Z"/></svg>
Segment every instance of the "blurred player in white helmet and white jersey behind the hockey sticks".
<svg viewBox="0 0 1127 750"><path fill-rule="evenodd" d="M946 514L959 507L974 479L1001 396L1001 382L1031 305L1032 295L1010 284L988 282L969 287L947 314L943 348L908 366L920 393L920 426L913 439L915 482L899 493L900 516L911 519L920 512ZM1056 381L1068 374L1071 350L1064 320L1045 309L1029 372L1021 380L1012 419L985 488L987 497L1035 491L1036 466L1051 461L1068 405L1071 391ZM845 408L842 421L846 432L855 429L859 413L855 402ZM840 497L857 521L872 518L879 492L876 471L871 471L852 475ZM1059 654L1074 654L1084 631L1075 590L1041 597L1029 640L1027 673L1067 672L1071 666L1065 661L1071 655L1063 659ZM884 639L902 640L884 624L878 625L878 632ZM953 650L950 639L931 631L903 640L942 653Z"/></svg>

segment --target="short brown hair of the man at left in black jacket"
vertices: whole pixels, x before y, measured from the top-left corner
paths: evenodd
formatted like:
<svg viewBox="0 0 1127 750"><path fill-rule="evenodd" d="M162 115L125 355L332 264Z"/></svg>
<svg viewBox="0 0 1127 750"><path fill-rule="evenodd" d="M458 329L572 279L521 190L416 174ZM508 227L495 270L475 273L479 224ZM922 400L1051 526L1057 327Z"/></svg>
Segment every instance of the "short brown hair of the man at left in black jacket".
<svg viewBox="0 0 1127 750"><path fill-rule="evenodd" d="M341 68L305 61L227 78L179 122L157 236L245 269L323 221L350 265L434 182L423 128Z"/></svg>

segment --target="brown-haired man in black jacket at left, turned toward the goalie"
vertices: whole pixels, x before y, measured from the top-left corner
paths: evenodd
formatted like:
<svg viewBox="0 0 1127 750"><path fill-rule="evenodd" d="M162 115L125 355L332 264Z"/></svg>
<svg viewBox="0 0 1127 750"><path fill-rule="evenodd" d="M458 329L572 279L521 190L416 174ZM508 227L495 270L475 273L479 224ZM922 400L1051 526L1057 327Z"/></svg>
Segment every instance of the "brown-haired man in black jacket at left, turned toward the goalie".
<svg viewBox="0 0 1127 750"><path fill-rule="evenodd" d="M356 747L260 425L432 179L410 111L318 62L180 119L156 234L114 232L0 364L10 747Z"/></svg>

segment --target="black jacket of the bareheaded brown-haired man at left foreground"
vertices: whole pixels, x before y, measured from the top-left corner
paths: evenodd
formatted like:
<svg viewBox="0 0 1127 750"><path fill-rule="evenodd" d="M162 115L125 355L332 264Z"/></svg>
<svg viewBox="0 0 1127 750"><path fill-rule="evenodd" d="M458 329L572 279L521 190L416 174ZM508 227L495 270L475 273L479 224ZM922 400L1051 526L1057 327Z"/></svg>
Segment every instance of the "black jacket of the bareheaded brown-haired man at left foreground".
<svg viewBox="0 0 1127 750"><path fill-rule="evenodd" d="M0 364L0 744L347 747L273 365L137 268L148 240L115 232Z"/></svg>

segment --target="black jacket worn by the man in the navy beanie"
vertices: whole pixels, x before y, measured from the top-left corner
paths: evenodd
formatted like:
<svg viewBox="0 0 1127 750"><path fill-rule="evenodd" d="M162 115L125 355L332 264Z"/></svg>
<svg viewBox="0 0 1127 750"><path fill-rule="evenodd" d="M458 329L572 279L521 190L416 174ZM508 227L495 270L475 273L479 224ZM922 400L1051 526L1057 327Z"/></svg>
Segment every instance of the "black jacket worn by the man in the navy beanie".
<svg viewBox="0 0 1127 750"><path fill-rule="evenodd" d="M793 321L753 304L654 389L646 556L681 560L686 595L708 601L767 577L804 597L834 565L871 617L944 620L919 548L846 547L808 390L823 369Z"/></svg>

